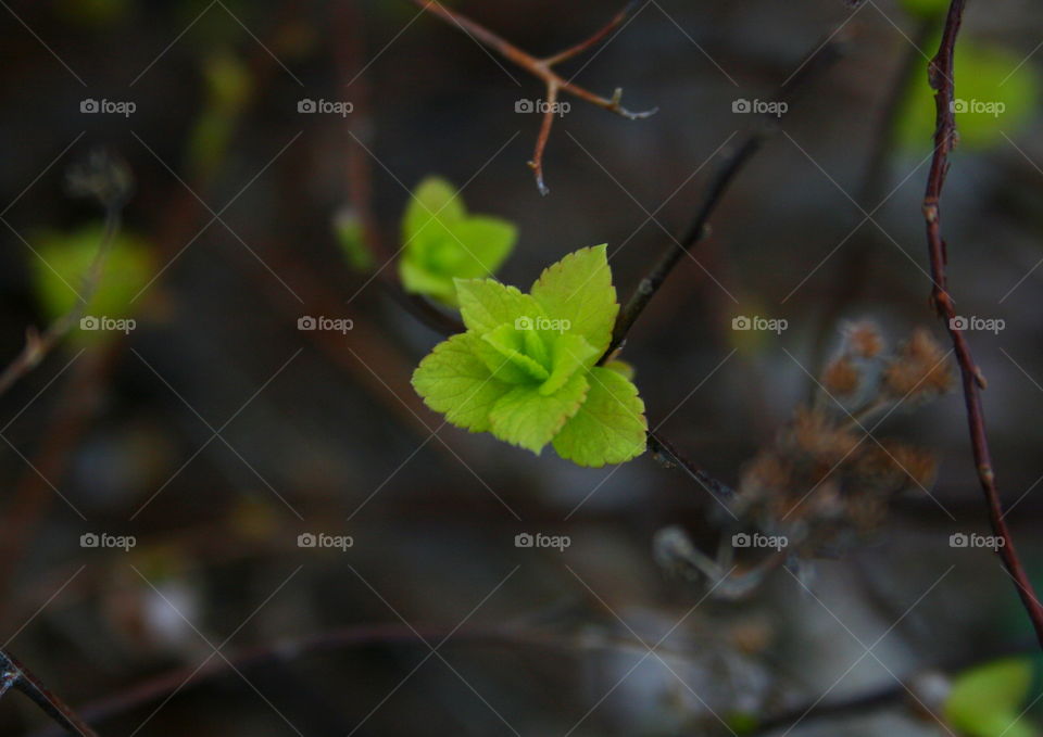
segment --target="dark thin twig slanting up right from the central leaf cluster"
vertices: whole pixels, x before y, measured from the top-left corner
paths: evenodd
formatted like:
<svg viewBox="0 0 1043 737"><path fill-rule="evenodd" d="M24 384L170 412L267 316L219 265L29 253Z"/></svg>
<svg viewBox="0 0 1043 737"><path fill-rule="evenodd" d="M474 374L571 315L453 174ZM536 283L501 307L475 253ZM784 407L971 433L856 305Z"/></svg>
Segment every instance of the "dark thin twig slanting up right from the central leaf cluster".
<svg viewBox="0 0 1043 737"><path fill-rule="evenodd" d="M797 91L802 89L805 82L818 76L831 67L840 58L843 46L842 38L832 38L825 45L817 47L814 55L807 61L801 71L784 84L777 96L782 102L792 101ZM663 282L674 271L674 268L680 263L686 254L690 254L692 249L709 236L709 218L716 212L728 188L734 181L736 177L745 168L746 164L753 158L764 144L779 130L778 119L765 115L759 125L755 126L742 143L728 153L717 165L717 168L709 180L709 185L703 194L703 200L695 212L695 218L688 226L688 229L681 238L673 242L663 252L658 261L653 265L649 274L638 283L633 294L619 310L619 317L616 320L613 330L612 343L605 355L602 356L604 363L612 356L619 346L623 345L627 333L633 323L649 306L649 303L658 292Z"/></svg>

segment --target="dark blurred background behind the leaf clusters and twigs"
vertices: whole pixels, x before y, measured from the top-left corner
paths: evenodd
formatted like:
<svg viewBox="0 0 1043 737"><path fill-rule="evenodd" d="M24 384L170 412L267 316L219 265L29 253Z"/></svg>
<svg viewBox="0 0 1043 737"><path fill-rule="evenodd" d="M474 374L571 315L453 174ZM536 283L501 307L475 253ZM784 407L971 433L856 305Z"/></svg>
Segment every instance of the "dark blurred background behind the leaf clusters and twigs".
<svg viewBox="0 0 1043 737"><path fill-rule="evenodd" d="M950 545L989 534L958 394L868 428L935 453L930 495L720 600L654 555L668 525L716 548L701 485L649 454L581 469L443 425L409 383L442 336L393 287L410 192L438 175L517 224L505 282L608 243L629 295L762 125L745 107L840 46L624 352L650 423L737 483L845 321L946 341L920 211L939 3L639 0L562 73L658 113L563 98L546 196L526 166L540 116L518 112L541 82L407 0L0 4L0 363L68 309L101 241L71 167L104 149L135 181L90 313L125 329L74 329L0 396L0 641L99 734L1043 734L1035 709L1014 721L1040 694L1014 585ZM450 5L538 55L620 10ZM1033 574L1041 43L1034 3L970 3L944 201L957 310L991 320L969 338ZM299 329L319 316L351 329ZM954 715L968 683L977 725ZM0 734L48 728L0 701Z"/></svg>

